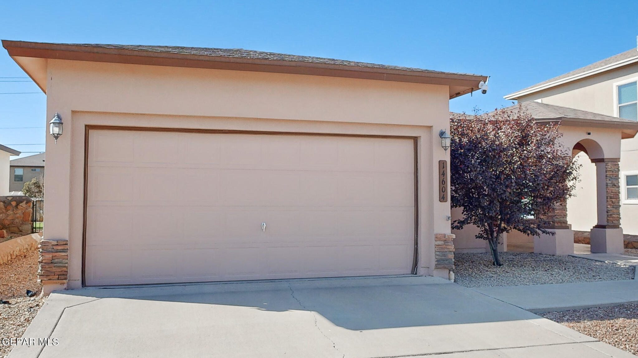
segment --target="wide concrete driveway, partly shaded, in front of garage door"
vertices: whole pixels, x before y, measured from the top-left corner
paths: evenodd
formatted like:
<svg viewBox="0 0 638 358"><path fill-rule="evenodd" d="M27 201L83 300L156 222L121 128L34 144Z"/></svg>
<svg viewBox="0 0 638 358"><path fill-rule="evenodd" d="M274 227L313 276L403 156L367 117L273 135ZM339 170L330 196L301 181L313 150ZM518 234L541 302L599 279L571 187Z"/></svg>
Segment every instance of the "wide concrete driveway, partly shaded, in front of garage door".
<svg viewBox="0 0 638 358"><path fill-rule="evenodd" d="M51 294L17 357L634 357L432 277L210 283Z"/></svg>

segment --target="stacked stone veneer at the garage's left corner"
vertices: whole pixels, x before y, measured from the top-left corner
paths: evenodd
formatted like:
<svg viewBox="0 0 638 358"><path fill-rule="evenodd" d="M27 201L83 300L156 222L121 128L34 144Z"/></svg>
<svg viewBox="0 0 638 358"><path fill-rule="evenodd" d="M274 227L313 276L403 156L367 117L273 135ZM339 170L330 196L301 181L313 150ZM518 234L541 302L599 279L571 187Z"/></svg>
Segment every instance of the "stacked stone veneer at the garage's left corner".
<svg viewBox="0 0 638 358"><path fill-rule="evenodd" d="M40 269L38 282L42 283L42 293L66 289L69 267L69 245L64 239L40 241Z"/></svg>

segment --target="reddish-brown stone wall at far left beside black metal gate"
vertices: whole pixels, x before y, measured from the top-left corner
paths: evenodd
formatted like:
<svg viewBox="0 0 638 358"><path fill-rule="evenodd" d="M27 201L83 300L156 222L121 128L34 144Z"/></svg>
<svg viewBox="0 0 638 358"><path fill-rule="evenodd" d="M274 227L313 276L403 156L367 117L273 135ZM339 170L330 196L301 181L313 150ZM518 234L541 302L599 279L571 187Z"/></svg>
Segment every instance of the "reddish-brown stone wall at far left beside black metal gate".
<svg viewBox="0 0 638 358"><path fill-rule="evenodd" d="M31 234L32 209L33 203L28 196L0 196L0 235Z"/></svg>

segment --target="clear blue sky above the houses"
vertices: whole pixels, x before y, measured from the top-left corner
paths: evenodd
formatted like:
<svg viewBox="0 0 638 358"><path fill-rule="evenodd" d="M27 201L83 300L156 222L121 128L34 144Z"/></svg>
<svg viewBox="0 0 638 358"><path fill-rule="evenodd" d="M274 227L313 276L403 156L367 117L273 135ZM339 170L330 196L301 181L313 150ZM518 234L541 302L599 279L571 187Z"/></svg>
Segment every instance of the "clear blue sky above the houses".
<svg viewBox="0 0 638 358"><path fill-rule="evenodd" d="M491 76L450 110L636 46L638 1L6 1L0 38L248 48ZM40 92L0 50L0 93ZM43 94L0 94L0 143L44 150ZM38 127L6 129L8 127Z"/></svg>

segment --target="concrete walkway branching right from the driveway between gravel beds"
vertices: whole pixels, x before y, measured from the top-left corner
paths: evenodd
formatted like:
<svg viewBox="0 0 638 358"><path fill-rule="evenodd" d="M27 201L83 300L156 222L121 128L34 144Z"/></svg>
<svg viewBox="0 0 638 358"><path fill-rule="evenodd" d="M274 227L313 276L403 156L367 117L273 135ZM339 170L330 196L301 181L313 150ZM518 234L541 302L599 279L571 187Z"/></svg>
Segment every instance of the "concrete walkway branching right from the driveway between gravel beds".
<svg viewBox="0 0 638 358"><path fill-rule="evenodd" d="M638 303L638 280L475 287L473 290L535 313Z"/></svg>

